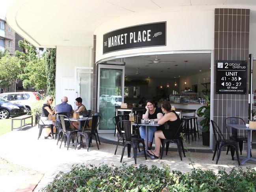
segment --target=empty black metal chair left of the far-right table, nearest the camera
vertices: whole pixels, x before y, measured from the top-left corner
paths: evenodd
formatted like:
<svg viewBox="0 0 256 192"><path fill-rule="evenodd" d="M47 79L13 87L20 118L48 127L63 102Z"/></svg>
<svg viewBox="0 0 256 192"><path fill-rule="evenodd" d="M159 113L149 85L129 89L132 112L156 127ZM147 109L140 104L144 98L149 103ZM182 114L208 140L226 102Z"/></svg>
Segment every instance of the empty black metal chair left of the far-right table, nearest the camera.
<svg viewBox="0 0 256 192"><path fill-rule="evenodd" d="M234 160L234 149L235 149L237 161L238 161L238 164L240 165L237 142L235 140L232 140L232 139L226 140L224 138L224 136L222 135L218 125L213 120L211 120L211 124L213 126L214 138L216 140L215 150L214 150L214 154L213 154L213 160L214 160L214 157L216 155L216 152L218 152L217 153L217 159L216 159L216 164L218 164L221 149L223 147L232 147L231 148L232 160ZM219 139L218 139L218 137L219 137Z"/></svg>

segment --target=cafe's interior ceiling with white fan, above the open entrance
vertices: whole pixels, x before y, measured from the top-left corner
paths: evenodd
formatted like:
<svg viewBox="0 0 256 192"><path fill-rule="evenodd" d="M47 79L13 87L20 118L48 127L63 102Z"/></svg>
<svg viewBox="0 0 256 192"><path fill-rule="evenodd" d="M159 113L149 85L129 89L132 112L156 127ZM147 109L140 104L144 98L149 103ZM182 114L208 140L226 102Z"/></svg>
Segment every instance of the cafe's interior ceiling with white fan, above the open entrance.
<svg viewBox="0 0 256 192"><path fill-rule="evenodd" d="M152 63L156 55L125 58L125 75L150 78L179 78L210 71L211 54L166 54L157 55L159 63ZM161 62L162 61L162 62ZM170 62L164 62L170 61ZM184 61L187 61L185 64ZM148 65L148 63L151 63ZM178 65L175 68L175 65ZM139 74L136 75L138 68ZM168 69L169 68L169 69ZM201 70L201 71L199 71Z"/></svg>

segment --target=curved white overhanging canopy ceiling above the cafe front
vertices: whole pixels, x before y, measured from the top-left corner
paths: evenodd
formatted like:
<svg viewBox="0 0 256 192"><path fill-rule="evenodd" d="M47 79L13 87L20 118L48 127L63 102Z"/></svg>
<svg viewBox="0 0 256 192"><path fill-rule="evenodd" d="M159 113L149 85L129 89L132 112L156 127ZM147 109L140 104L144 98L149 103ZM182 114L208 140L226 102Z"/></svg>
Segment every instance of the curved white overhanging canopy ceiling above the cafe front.
<svg viewBox="0 0 256 192"><path fill-rule="evenodd" d="M104 22L142 11L184 6L250 6L255 0L10 0L8 24L36 47L93 45L93 32ZM35 17L31 17L35 15ZM256 18L256 15L253 15ZM250 17L250 21L255 21Z"/></svg>

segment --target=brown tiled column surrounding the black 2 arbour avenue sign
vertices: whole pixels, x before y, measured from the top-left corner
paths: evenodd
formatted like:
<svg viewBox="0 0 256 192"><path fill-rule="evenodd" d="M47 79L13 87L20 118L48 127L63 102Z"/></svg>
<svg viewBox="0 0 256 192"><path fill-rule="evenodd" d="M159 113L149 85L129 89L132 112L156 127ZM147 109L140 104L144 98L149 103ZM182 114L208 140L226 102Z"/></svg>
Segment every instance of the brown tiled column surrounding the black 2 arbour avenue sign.
<svg viewBox="0 0 256 192"><path fill-rule="evenodd" d="M247 60L249 64L249 19L250 9L215 9L213 120L226 138L226 117L241 117L245 122L248 121L248 93L216 94L216 61ZM247 89L248 82L249 78Z"/></svg>

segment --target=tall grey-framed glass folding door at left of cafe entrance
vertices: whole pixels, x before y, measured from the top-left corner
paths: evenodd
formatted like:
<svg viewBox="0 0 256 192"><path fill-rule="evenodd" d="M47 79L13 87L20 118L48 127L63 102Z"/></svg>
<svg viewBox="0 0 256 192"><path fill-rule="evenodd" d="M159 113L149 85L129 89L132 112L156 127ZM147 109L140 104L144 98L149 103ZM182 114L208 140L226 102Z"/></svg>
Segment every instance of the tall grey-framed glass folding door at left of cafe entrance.
<svg viewBox="0 0 256 192"><path fill-rule="evenodd" d="M115 106L123 103L124 66L98 65L97 109L102 114L99 133L114 133Z"/></svg>

